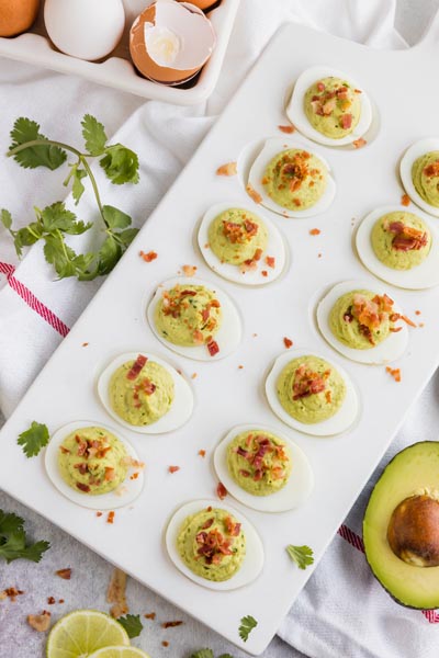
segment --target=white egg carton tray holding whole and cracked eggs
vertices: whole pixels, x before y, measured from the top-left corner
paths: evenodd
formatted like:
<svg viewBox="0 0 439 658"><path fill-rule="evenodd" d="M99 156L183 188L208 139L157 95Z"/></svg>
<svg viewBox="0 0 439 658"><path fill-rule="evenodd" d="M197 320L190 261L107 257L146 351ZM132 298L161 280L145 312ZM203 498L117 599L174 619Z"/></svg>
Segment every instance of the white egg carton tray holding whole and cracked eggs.
<svg viewBox="0 0 439 658"><path fill-rule="evenodd" d="M120 44L99 63L85 61L60 53L47 36L43 9L29 32L15 37L0 37L0 57L27 61L61 73L81 76L97 84L114 87L146 99L179 105L194 105L205 101L214 90L223 66L227 44L240 0L222 0L207 16L216 33L216 46L201 73L184 87L167 87L140 77L130 57L128 36L134 19L151 0L123 0L126 12L125 31Z"/></svg>

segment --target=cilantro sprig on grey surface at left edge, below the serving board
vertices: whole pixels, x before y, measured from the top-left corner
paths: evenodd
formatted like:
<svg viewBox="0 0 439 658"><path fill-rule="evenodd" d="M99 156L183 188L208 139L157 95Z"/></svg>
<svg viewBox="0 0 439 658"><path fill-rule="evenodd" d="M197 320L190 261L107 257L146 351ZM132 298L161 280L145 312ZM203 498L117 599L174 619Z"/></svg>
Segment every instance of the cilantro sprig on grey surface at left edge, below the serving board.
<svg viewBox="0 0 439 658"><path fill-rule="evenodd" d="M38 563L49 547L48 542L27 543L24 520L0 510L0 557L8 564L19 558Z"/></svg>

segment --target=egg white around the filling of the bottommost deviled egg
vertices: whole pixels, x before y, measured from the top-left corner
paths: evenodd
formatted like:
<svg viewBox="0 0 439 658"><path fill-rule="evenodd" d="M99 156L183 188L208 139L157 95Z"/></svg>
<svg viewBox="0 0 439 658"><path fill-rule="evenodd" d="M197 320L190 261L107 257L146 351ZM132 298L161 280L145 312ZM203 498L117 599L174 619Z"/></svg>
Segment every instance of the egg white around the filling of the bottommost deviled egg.
<svg viewBox="0 0 439 658"><path fill-rule="evenodd" d="M191 571L191 569L187 567L181 559L177 548L177 537L184 519L191 514L196 514L209 507L229 512L238 521L238 523L241 524L241 530L246 536L246 556L243 560L243 564L239 570L232 576L229 580L224 580L223 582L207 580L206 578L202 578L201 576L198 576ZM227 591L244 587L245 585L256 580L263 567L263 545L255 526L240 512L235 510L229 504L224 504L223 500L192 500L191 502L183 504L183 507L175 512L169 521L168 527L166 529L165 543L168 555L179 571L193 580L193 582L212 590Z"/></svg>

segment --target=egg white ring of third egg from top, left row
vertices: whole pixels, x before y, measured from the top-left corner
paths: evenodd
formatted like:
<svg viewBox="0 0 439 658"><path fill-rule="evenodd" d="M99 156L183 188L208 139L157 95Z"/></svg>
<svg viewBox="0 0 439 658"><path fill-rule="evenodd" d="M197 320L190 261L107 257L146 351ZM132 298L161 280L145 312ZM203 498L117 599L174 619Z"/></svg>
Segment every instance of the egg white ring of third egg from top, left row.
<svg viewBox="0 0 439 658"><path fill-rule="evenodd" d="M211 270L215 272L215 274L218 274L219 276L227 279L227 281L232 281L233 283L241 283L243 285L266 285L268 283L271 283L282 274L282 272L285 269L288 259L285 242L279 229L274 226L274 224L272 224L272 222L270 222L270 219L267 219L267 217L263 217L262 215L260 215L259 217L267 227L268 241L267 249L263 252L261 260L258 261L255 270L243 272L239 265L223 263L209 247L209 227L211 226L215 217L217 217L225 211L228 211L229 208L243 208L245 211L248 211L249 213L259 215L258 213L255 213L255 211L250 211L248 207L245 206L245 204L240 203L239 201L232 201L229 203L217 203L214 206L210 207L201 220L198 232L198 242L204 260L206 261ZM267 265L264 261L267 256L270 256L275 259L274 268L270 268ZM262 271L266 271L268 275L262 276Z"/></svg>

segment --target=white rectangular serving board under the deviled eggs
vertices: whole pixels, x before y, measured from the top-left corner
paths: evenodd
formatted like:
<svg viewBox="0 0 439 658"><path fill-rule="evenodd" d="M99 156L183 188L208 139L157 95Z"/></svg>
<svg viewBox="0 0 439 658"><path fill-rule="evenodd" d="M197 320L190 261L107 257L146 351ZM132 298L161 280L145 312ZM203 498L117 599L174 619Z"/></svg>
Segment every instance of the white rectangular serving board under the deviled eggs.
<svg viewBox="0 0 439 658"><path fill-rule="evenodd" d="M1 432L2 489L252 655L267 647L439 362L437 290L385 286L408 316L417 317L414 311L420 309L425 322L410 330L409 347L395 364L402 371L399 384L384 366L351 363L333 353L313 319L327 286L368 276L352 251L352 218L358 223L373 207L399 202L401 154L412 141L437 133L439 89L426 83L436 79L436 54L427 42L407 52L376 52L295 24L282 29ZM282 279L257 290L225 282L194 251L194 227L214 203L235 200L251 207L251 202L235 178L217 177L215 170L235 160L247 143L280 134L286 90L301 71L317 64L347 70L361 82L379 109L379 136L358 151L314 147L333 167L337 195L323 216L274 217L292 251ZM322 230L319 236L309 235L314 227ZM159 257L146 264L138 257L140 249L154 249ZM223 361L199 363L175 355L157 341L143 317L144 296L185 263L195 264L201 279L228 292L240 309L243 342ZM296 347L334 356L351 375L361 395L361 417L351 431L317 439L289 430L272 415L263 381L284 349L284 336ZM83 348L83 342L89 345ZM191 381L195 409L189 423L170 434L123 430L147 464L146 487L133 509L117 511L114 525L109 525L105 517L97 519L94 512L63 498L46 477L43 458L27 460L16 438L32 420L47 423L50 431L81 419L114 427L95 397L95 378L114 355L136 350L168 359L189 378L196 372ZM260 533L266 563L251 585L214 592L173 567L164 548L164 527L183 502L215 496L213 447L241 423L263 423L289 433L309 457L315 489L302 508L281 514L251 511L227 498ZM207 451L205 460L198 456L200 449ZM170 475L170 464L181 470ZM314 566L299 570L285 553L290 543L312 546ZM244 645L238 625L248 614L259 623Z"/></svg>

